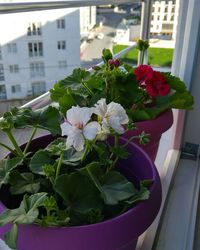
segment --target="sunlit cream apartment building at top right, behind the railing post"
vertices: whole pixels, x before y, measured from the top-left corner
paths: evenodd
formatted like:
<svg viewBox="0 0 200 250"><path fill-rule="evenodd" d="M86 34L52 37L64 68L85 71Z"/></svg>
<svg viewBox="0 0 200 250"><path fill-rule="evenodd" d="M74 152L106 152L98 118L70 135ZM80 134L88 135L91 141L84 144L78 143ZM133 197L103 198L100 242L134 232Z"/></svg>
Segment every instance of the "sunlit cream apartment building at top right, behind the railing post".
<svg viewBox="0 0 200 250"><path fill-rule="evenodd" d="M179 0L155 0L152 6L151 36L176 38Z"/></svg>

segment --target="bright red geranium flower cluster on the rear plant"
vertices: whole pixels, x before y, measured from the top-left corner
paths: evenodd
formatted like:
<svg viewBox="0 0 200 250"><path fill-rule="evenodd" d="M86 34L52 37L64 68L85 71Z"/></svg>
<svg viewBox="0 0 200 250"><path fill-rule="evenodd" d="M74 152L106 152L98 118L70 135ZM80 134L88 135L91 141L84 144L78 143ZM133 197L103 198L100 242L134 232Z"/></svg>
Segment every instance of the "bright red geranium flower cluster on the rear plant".
<svg viewBox="0 0 200 250"><path fill-rule="evenodd" d="M148 65L140 65L135 69L136 80L140 86L146 89L147 93L152 96L165 96L169 94L171 87L165 77L158 71L154 71Z"/></svg>

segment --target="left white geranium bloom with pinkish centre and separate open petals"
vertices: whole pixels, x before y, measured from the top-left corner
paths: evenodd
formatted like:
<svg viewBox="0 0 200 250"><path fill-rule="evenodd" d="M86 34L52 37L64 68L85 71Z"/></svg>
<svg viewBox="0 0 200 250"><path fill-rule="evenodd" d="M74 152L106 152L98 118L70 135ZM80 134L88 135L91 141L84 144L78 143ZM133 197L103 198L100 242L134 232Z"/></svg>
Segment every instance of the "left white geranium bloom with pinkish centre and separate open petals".
<svg viewBox="0 0 200 250"><path fill-rule="evenodd" d="M73 146L76 151L81 151L85 139L93 140L96 137L101 128L98 122L89 122L91 115L92 109L85 107L72 107L67 111L67 119L61 124L62 136L67 135L67 146Z"/></svg>

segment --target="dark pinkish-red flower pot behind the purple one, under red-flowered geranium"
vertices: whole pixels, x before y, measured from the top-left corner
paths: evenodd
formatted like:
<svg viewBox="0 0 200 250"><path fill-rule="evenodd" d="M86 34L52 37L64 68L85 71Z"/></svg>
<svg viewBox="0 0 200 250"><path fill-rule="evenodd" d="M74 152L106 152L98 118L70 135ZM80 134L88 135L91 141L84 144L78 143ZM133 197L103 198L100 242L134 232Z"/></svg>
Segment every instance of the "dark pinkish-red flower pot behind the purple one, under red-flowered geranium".
<svg viewBox="0 0 200 250"><path fill-rule="evenodd" d="M172 124L173 113L170 109L169 111L164 112L153 120L136 122L135 125L137 127L137 130L128 131L123 135L123 137L128 139L134 135L140 134L142 131L150 134L150 142L147 145L139 144L138 140L133 141L144 149L144 151L149 155L152 161L155 161L160 138L162 134L172 126Z"/></svg>

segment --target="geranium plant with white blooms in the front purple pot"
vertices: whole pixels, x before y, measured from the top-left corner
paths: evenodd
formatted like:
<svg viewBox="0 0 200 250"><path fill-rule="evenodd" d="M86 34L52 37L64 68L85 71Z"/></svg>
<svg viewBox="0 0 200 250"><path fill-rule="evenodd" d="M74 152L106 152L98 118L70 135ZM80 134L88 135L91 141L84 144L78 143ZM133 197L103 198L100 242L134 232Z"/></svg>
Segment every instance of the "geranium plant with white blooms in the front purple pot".
<svg viewBox="0 0 200 250"><path fill-rule="evenodd" d="M70 90L68 93L73 96ZM26 127L33 131L20 147L13 129ZM14 108L5 113L0 129L12 146L0 144L10 151L0 161L1 201L7 207L0 214L0 226L12 223L5 235L7 244L16 249L19 224L97 223L148 199L151 181L135 187L117 168L119 159L129 157L129 141L120 144L119 137L131 127L124 108L105 99L92 107L72 106L64 115L52 106L36 111ZM38 128L53 137L45 148L33 149ZM141 143L148 141L144 133L138 137Z"/></svg>

